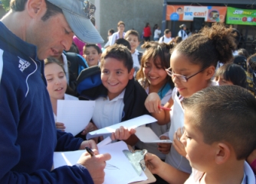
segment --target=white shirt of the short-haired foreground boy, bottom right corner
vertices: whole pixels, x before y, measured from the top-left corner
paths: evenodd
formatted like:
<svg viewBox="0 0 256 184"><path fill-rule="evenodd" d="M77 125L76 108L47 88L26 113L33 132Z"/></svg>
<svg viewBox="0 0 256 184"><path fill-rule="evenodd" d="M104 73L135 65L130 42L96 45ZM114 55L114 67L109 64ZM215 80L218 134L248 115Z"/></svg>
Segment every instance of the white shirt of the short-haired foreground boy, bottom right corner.
<svg viewBox="0 0 256 184"><path fill-rule="evenodd" d="M256 182L254 173L247 162L245 162L244 164L244 170L244 179L242 180L241 184L255 184ZM189 176L189 179L187 179L184 184L199 184L200 179L202 178L203 175L203 172L200 172L196 169L192 169L192 173Z"/></svg>

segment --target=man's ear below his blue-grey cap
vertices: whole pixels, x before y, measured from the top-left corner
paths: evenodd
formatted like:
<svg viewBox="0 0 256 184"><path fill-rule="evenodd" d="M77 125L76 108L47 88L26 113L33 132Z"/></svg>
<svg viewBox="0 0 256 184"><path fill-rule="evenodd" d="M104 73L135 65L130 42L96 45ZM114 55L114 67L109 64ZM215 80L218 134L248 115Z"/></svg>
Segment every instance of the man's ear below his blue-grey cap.
<svg viewBox="0 0 256 184"><path fill-rule="evenodd" d="M45 13L46 11L45 1L46 0L28 0L27 4L25 5L25 9L27 9L28 15L31 18L34 18L35 16L38 16L42 11L44 11L43 13Z"/></svg>

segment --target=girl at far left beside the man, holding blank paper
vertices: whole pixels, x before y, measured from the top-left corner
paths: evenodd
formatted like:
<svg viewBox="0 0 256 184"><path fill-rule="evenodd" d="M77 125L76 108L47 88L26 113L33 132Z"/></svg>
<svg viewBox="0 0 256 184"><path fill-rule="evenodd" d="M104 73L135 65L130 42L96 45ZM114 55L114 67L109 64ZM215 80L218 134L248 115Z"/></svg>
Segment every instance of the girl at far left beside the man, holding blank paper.
<svg viewBox="0 0 256 184"><path fill-rule="evenodd" d="M54 120L57 129L65 131L65 126L63 123L56 122L57 115L57 100L78 100L77 97L67 95L67 79L64 71L64 66L54 57L48 57L44 60L44 76L48 83L47 89L51 99L51 106L54 111ZM87 128L82 132L82 134L87 134L87 131L93 131L93 124L88 124Z"/></svg>

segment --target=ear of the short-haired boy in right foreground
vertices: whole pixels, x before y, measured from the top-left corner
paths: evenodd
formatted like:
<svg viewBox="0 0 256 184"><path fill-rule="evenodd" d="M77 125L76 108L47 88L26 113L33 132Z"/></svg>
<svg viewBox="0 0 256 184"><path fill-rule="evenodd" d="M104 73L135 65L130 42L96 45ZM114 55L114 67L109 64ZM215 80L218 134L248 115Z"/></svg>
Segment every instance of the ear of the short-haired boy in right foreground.
<svg viewBox="0 0 256 184"><path fill-rule="evenodd" d="M227 144L218 143L216 145L215 163L218 165L227 162L231 157L231 148Z"/></svg>

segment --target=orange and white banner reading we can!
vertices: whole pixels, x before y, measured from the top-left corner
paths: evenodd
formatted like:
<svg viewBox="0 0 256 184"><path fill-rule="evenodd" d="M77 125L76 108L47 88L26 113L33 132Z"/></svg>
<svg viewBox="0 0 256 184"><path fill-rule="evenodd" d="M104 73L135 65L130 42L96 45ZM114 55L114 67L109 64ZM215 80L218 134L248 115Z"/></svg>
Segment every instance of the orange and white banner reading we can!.
<svg viewBox="0 0 256 184"><path fill-rule="evenodd" d="M193 21L193 18L205 18L208 22L224 22L227 8L222 6L185 6L167 5L167 21Z"/></svg>

